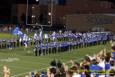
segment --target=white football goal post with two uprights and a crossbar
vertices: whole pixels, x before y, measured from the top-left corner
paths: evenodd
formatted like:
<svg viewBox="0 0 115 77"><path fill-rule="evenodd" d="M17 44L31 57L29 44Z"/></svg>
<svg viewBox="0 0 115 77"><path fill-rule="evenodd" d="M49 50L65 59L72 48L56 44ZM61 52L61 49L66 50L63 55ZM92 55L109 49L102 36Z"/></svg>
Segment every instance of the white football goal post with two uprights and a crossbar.
<svg viewBox="0 0 115 77"><path fill-rule="evenodd" d="M30 0L27 0L27 4L26 4L26 25L30 25L30 26L48 26L48 27L52 26L53 25L53 0L50 0L51 3L48 4L48 6L50 6L50 7L48 7L48 9L50 8L50 15L49 15L49 12L47 11L47 13L48 13L47 16L46 16L47 17L47 24L41 24L40 22L37 22L37 21L39 21L37 19L37 15L34 16L32 14L32 12L33 12L32 8L34 8L34 7L32 7L33 4L29 3L29 1ZM37 0L37 1L40 1L40 0ZM49 17L49 20L48 20L48 17ZM36 20L34 23L32 22L33 18ZM31 23L29 21L31 21Z"/></svg>

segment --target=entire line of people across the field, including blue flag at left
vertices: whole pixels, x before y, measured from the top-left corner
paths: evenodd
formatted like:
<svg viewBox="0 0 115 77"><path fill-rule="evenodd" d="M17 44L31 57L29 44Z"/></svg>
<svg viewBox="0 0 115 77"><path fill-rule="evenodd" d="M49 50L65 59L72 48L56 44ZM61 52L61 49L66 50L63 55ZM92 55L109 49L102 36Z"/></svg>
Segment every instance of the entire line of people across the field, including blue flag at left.
<svg viewBox="0 0 115 77"><path fill-rule="evenodd" d="M33 36L18 32L16 39L0 40L0 49L34 46L35 55L45 55L68 51L72 48L81 48L98 44L105 44L112 39L110 32L72 33L61 30L59 32L44 33L41 29Z"/></svg>

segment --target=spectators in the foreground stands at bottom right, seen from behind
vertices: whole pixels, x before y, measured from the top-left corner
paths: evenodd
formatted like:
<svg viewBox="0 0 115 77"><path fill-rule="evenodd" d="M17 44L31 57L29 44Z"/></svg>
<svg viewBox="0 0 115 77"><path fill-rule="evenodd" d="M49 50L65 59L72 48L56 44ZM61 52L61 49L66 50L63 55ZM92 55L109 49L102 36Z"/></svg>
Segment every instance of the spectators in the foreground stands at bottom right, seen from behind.
<svg viewBox="0 0 115 77"><path fill-rule="evenodd" d="M71 60L68 63L53 60L47 71L30 72L25 77L115 77L115 43L111 51L102 49L97 54L85 55L81 62Z"/></svg>

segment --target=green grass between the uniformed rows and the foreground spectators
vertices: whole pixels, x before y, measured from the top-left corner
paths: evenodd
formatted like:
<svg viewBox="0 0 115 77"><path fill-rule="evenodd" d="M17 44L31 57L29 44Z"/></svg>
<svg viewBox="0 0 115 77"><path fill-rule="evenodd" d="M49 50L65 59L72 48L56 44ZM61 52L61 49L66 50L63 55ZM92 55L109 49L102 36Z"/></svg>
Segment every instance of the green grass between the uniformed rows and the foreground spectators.
<svg viewBox="0 0 115 77"><path fill-rule="evenodd" d="M71 59L80 62L86 54L93 55L104 48L109 50L109 44L37 57L34 56L33 47L30 47L26 51L23 48L15 48L13 50L0 49L0 72L2 73L2 67L7 65L11 70L11 77L24 77L29 71L47 69L50 61L54 58L60 59L62 62L67 62ZM27 54L28 51L30 54ZM2 77L1 73L0 77Z"/></svg>

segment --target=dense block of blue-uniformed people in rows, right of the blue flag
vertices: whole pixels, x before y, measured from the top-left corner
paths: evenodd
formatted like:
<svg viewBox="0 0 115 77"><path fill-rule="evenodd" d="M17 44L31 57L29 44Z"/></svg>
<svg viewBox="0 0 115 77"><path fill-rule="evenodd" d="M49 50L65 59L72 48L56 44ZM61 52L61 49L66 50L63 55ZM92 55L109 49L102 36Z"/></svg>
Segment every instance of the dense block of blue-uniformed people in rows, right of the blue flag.
<svg viewBox="0 0 115 77"><path fill-rule="evenodd" d="M111 39L108 32L87 32L72 33L71 31L53 32L51 35L44 34L43 42L41 34L38 37L35 34L35 55L46 55L50 53L58 53L71 51L71 49L106 44ZM38 40L38 38L40 38ZM49 40L50 38L50 40Z"/></svg>

